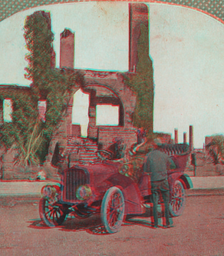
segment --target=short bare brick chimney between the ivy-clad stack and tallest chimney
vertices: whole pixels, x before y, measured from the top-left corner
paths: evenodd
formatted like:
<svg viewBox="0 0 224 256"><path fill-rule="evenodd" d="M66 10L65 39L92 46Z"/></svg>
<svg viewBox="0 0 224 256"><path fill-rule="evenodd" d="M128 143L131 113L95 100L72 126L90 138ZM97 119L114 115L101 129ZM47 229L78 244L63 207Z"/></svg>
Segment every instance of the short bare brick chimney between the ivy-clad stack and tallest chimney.
<svg viewBox="0 0 224 256"><path fill-rule="evenodd" d="M60 38L60 68L74 68L74 33L65 28Z"/></svg>

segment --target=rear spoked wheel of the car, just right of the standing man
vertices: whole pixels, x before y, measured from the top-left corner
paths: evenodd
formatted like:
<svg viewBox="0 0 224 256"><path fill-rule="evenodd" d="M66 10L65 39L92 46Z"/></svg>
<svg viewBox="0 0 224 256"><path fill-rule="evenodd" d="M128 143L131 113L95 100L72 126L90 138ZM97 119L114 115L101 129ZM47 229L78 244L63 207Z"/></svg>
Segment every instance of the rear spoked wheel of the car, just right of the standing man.
<svg viewBox="0 0 224 256"><path fill-rule="evenodd" d="M170 214L178 217L183 213L186 203L185 191L181 181L175 181L172 189L170 200Z"/></svg>

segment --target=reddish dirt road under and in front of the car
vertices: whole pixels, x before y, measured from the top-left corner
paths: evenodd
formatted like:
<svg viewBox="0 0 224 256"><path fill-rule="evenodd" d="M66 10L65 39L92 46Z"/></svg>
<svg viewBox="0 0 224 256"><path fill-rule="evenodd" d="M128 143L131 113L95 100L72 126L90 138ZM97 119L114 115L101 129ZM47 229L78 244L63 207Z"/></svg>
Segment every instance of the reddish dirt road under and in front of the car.
<svg viewBox="0 0 224 256"><path fill-rule="evenodd" d="M102 231L99 215L68 216L48 228L38 214L38 201L0 204L0 255L5 256L222 256L223 196L186 198L186 208L173 218L174 228L151 226L150 217L124 221L120 232Z"/></svg>

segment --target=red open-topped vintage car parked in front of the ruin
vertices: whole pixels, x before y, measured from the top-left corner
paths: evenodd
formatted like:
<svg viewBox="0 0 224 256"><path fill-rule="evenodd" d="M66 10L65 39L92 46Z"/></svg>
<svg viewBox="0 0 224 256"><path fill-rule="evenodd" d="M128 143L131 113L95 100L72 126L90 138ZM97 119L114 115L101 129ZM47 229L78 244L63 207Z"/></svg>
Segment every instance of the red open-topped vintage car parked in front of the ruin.
<svg viewBox="0 0 224 256"><path fill-rule="evenodd" d="M184 174L189 158L188 145L163 145L160 150L173 158L176 169L168 171L170 184L170 214L183 213L185 189L192 188ZM49 227L61 225L68 214L88 218L100 214L105 231L120 231L124 218L144 213L144 204L150 203L150 178L139 168L140 178L134 181L124 171L122 161L113 161L110 153L99 151L100 161L92 165L75 165L63 171L61 183L41 189L39 202L41 220Z"/></svg>

